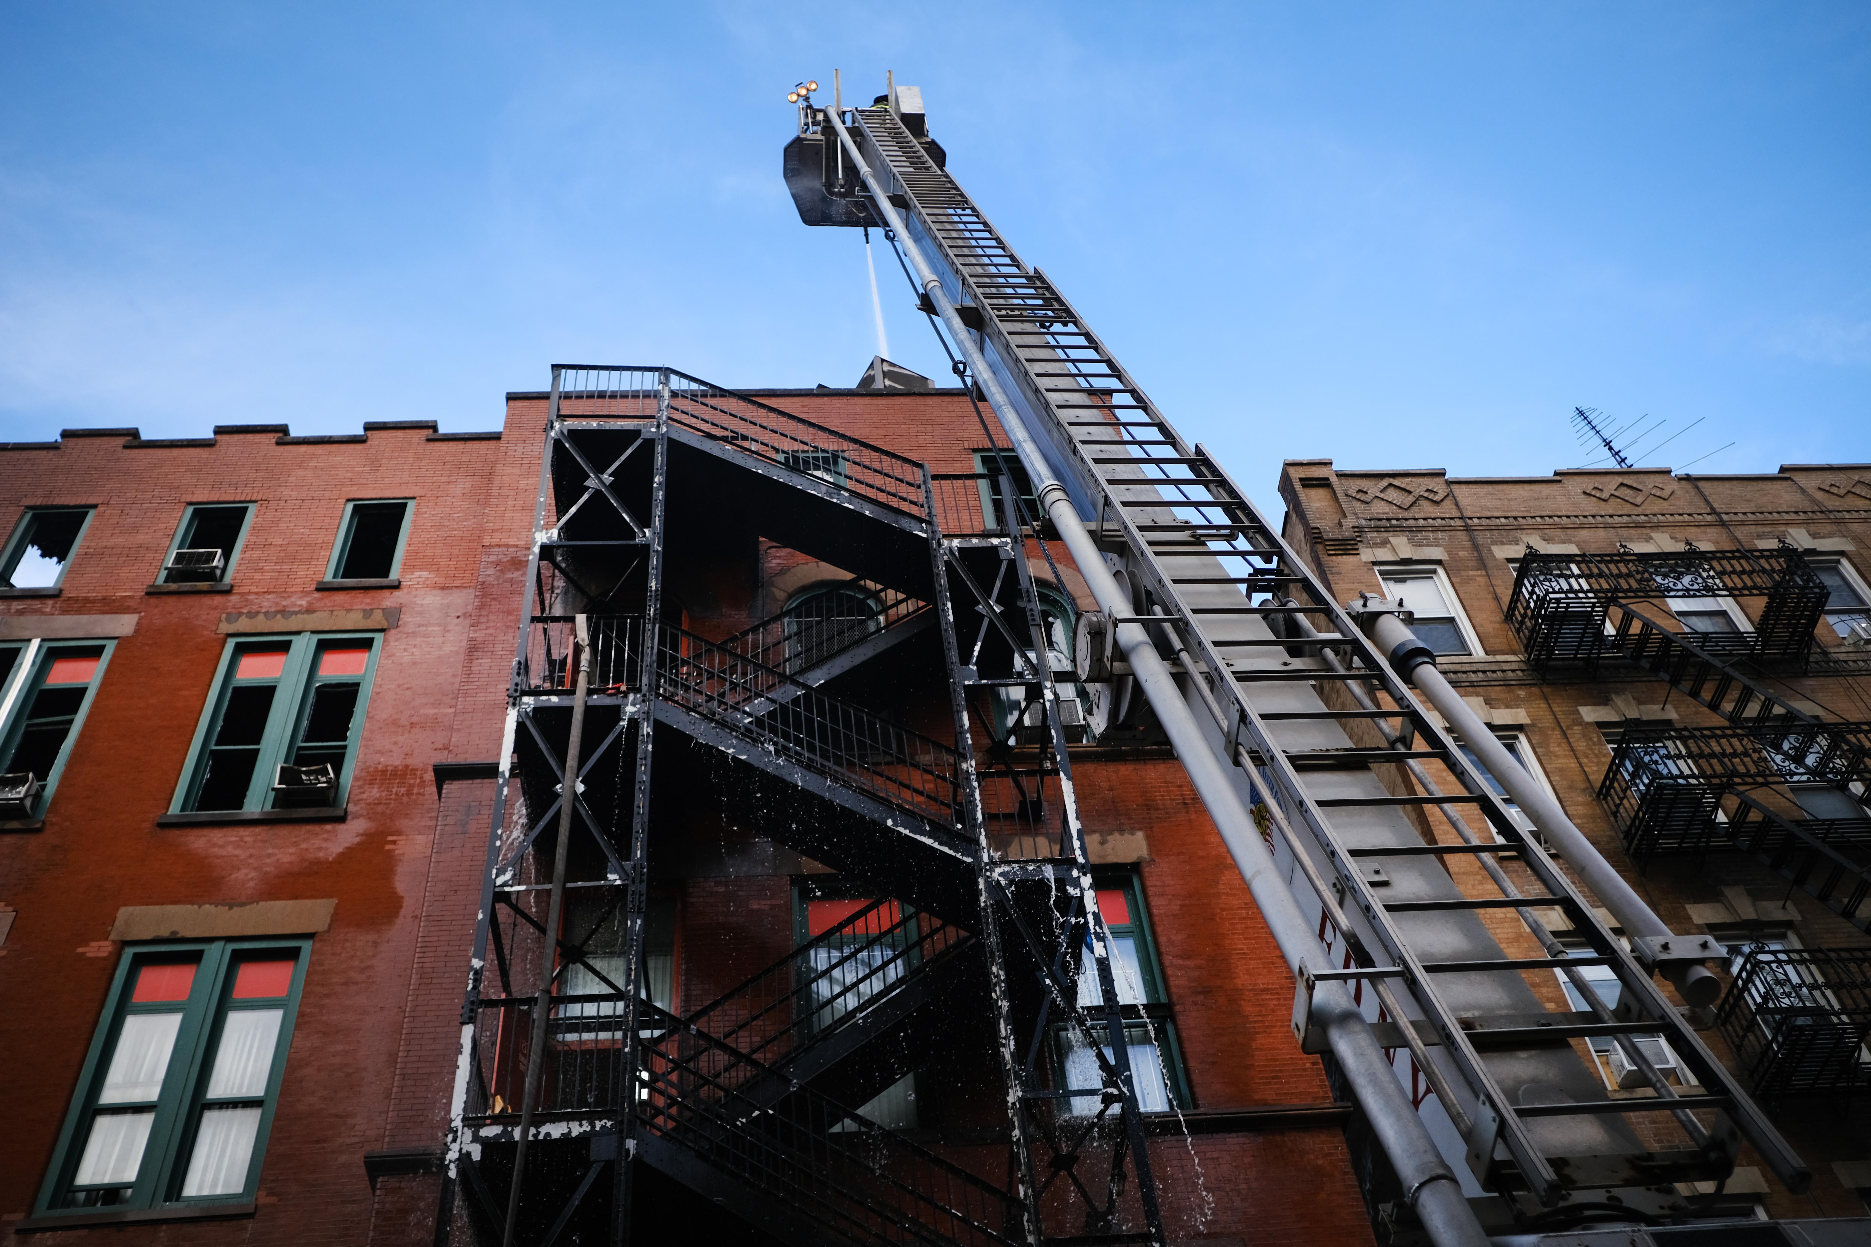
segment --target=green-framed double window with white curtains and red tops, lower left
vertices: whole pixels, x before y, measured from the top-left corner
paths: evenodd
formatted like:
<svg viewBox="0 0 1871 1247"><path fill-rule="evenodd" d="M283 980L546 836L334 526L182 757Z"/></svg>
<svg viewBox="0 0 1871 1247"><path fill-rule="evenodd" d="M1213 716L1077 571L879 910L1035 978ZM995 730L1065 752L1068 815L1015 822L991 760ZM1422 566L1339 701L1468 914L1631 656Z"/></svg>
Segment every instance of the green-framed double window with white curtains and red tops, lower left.
<svg viewBox="0 0 1871 1247"><path fill-rule="evenodd" d="M251 1202L309 939L131 944L39 1215Z"/></svg>

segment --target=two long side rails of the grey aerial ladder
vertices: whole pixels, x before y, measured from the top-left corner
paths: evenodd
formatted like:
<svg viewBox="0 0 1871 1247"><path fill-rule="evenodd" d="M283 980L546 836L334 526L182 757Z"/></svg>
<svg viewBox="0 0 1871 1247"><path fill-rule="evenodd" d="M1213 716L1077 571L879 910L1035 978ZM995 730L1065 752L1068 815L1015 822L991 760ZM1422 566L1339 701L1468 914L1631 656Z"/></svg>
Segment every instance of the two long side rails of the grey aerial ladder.
<svg viewBox="0 0 1871 1247"><path fill-rule="evenodd" d="M1418 740L1433 742L1431 748L1441 753L1439 761L1459 778L1463 787L1471 789L1469 796L1480 806L1487 823L1504 838L1519 839L1504 804L1493 796L1482 776L1467 763L1454 738L1437 725L1385 658L1351 624L1343 608L1323 593L1297 552L1280 538L1278 531L1267 523L1246 494L1233 484L1205 449L1190 447L1175 432L1141 387L1115 361L1115 355L1104 348L1102 340L1085 325L1070 303L1052 288L1044 275L1020 264L1018 256L1014 256L1012 249L1007 247L992 226L965 232L945 230L943 226L954 221L956 213L973 213L982 224L986 224L986 219L947 174L928 165L926 157L922 157L922 163L928 165L926 168L913 168L915 157L921 155L913 140L907 144L902 140L889 142L889 131L896 125L894 118L887 118L887 114L877 110L855 110L853 118L857 129L868 140L866 146L879 155L879 163L889 170L894 187L902 189L900 198L904 200L902 206L907 208L909 219L921 226L919 232L937 251L943 264L947 264L949 273L941 275L945 294L960 295L958 303L967 299L980 310L982 338L986 344L992 344L995 353L990 366L999 365L995 368L997 380L1012 381L1007 389L1025 398L1027 409L1040 423L1048 424L1044 430L1048 434L1046 441L1057 454L1059 466L1080 486L1078 494L1083 495L1074 497L1080 510L1093 510L1085 505L1087 497L1100 503L1096 507L1100 537L1110 533L1123 538L1130 574L1143 581L1149 595L1173 617L1175 630L1194 651L1199 666L1207 669L1205 673L1216 679L1218 692L1226 690L1218 709L1227 722L1218 720L1214 735L1252 742L1254 755L1261 759L1261 765L1274 778L1274 787L1284 804L1287 804L1289 811L1297 811L1298 821L1306 824L1317 841L1327 866L1336 875L1336 886L1345 890L1347 899L1355 897L1355 903L1349 903L1345 909L1364 918L1377 944L1383 946L1394 965L1405 970L1403 978L1411 995L1444 1038L1444 1051L1461 1069L1463 1081L1469 1082L1476 1101L1486 1105L1493 1114L1499 1114L1502 1142L1508 1144L1516 1163L1521 1165L1523 1176L1542 1197L1557 1191L1559 1178L1547 1165L1545 1155L1532 1142L1530 1133L1521 1122L1521 1114L1514 1111L1510 1099L1493 1082L1480 1053L1463 1038L1461 1026L1454 1023L1452 1010L1439 998L1437 989L1428 985L1424 963L1414 957L1409 942L1388 922L1381 901L1373 896L1334 834L1332 821L1321 804L1308 795L1306 785L1284 757L1272 733L1255 714L1242 682L1233 679L1237 664L1224 658L1220 647L1211 638L1211 628L1197 623L1196 611L1201 609L1209 623L1220 623L1212 619L1214 615L1237 615L1240 621L1257 619L1254 602L1248 596L1257 585L1265 589L1272 589L1274 585L1298 587L1313 602L1302 609L1325 615L1323 623L1343 638L1338 649L1345 652L1353 671L1379 688L1398 707L1398 714L1413 727L1413 735ZM883 131L885 136L879 138L877 131ZM911 168L906 170L902 159L891 157L892 148L898 155L909 155L907 163ZM932 202L924 204L924 196L930 196ZM898 196L892 194L894 198ZM999 254L994 254L995 251ZM1012 277L1018 279L1023 290L1018 295L1008 295L1008 282L990 284L982 280L982 269L995 275L1007 275L1012 269ZM1003 320L1014 320L1031 327L1008 331ZM1059 335L1046 329L1048 325L1063 325L1061 333L1074 338L1074 342L1057 342ZM1044 333L1046 340L1016 342L1014 333L1023 338L1035 338ZM1083 357L1087 353L1091 357ZM1059 381L1070 383L1057 385ZM1100 381L1100 385L1087 385L1087 381ZM1093 402L1065 402L1065 394L1091 398ZM1134 404L1124 404L1124 411L1138 411L1147 419L1124 419L1111 424L1068 419L1072 411L1087 411L1087 408L1110 409L1106 402L1098 402L1100 394L1106 398L1115 398L1117 394L1134 398ZM1100 430L1100 424L1115 436L1110 439L1091 437L1089 434ZM1132 430L1149 430L1151 437L1138 437ZM1156 447L1169 452L1154 452ZM1123 456L1111 454L1119 449L1124 451ZM1124 494L1130 494L1130 497L1124 497ZM1190 553L1209 553L1218 563L1222 559L1246 561L1259 574L1240 578L1171 574L1164 566L1160 552L1153 548L1153 542L1139 527L1145 520L1153 522L1151 529L1154 531L1173 531L1177 522L1188 523L1196 531L1226 527L1231 537L1246 538L1248 550L1254 553L1226 546L1214 548L1209 540L1201 540ZM1111 533L1113 527L1115 533ZM1267 552L1274 550L1278 550L1278 557L1270 566L1255 563L1255 557L1265 557ZM1203 583L1203 600L1209 600L1214 593L1209 585L1216 585L1218 581L1226 581L1224 591L1239 593L1239 608L1201 608L1192 604L1182 593L1182 585ZM1291 675L1269 675L1263 679L1267 682L1302 682L1323 675L1323 664L1317 660L1295 660L1287 667ZM1201 679L1203 673L1196 673L1190 684L1199 684ZM1218 752L1226 757L1224 750ZM1235 765L1237 759L1227 757L1226 761ZM1525 860L1542 877L1549 896L1570 894L1575 899L1579 905L1575 931L1587 937L1594 953L1605 957L1617 968L1620 985L1632 991L1632 998L1639 1002L1643 1011L1658 1019L1669 1038L1680 1045L1678 1051L1686 1054L1693 1053L1695 1064L1703 1066L1697 1073L1706 1071L1708 1077L1721 1082L1725 1071L1719 1062L1714 1062L1706 1049L1693 1038L1693 1032L1680 1023L1648 974L1622 950L1622 944L1598 924L1590 907L1570 888L1562 871L1545 858L1538 845L1527 845ZM1762 1152L1768 1154L1770 1165L1783 1178L1796 1183L1802 1168L1798 1157L1792 1157L1785 1142L1779 1140L1777 1131L1759 1114L1733 1079L1725 1079L1719 1099L1731 1105L1731 1111L1742 1118L1740 1125L1744 1133L1757 1146L1764 1144ZM1545 1116L1545 1112L1540 1116ZM1729 1163L1733 1163L1733 1157Z"/></svg>

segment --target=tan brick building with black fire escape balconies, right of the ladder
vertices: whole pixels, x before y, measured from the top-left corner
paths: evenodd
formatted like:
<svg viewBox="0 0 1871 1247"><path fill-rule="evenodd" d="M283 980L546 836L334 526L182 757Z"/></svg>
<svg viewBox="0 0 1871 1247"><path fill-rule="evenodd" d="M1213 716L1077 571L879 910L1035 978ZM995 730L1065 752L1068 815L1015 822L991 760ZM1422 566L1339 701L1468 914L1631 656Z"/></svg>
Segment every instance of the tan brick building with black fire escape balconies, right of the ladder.
<svg viewBox="0 0 1871 1247"><path fill-rule="evenodd" d="M1792 1197L1744 1155L1727 1195L1862 1215L1871 466L1450 479L1287 460L1280 495L1334 596L1403 598L1658 914L1727 948L1733 982L1693 1021L1815 1172ZM1617 1096L1613 1053L1598 1064Z"/></svg>

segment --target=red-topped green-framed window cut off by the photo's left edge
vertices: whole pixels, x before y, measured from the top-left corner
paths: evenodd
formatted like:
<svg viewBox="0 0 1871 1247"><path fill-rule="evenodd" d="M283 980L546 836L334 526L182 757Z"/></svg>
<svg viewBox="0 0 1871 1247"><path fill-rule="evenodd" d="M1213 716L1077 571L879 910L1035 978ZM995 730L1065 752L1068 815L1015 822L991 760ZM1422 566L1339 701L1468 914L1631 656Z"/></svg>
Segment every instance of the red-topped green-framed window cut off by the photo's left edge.
<svg viewBox="0 0 1871 1247"><path fill-rule="evenodd" d="M28 819L41 817L52 800L110 649L112 641L0 645L0 774L32 776Z"/></svg>

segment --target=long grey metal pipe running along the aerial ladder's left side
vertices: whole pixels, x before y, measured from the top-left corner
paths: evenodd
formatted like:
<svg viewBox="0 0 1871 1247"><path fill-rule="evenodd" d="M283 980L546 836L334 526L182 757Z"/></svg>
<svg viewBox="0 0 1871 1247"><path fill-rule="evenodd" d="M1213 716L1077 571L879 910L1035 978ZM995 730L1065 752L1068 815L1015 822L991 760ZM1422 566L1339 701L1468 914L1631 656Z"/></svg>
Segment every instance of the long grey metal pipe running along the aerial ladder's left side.
<svg viewBox="0 0 1871 1247"><path fill-rule="evenodd" d="M844 125L844 118L838 112L827 112L825 123L836 131L838 142L849 153L853 166L864 179L864 187L870 191L872 204L896 232L896 237L902 239L904 252L917 271L922 292L941 316L949 337L967 359L967 366L975 374L975 383L986 391L988 402L1001 421L1001 428L1014 443L1014 452L1035 484L1040 509L1059 531L1061 540L1091 589L1091 596L1098 602L1098 609L1110 613L1113 619L1130 615L1130 595L1111 576L1104 555L1093 542L1091 533L1085 531L1085 522L1072 505L1065 484L1059 482L1059 477L1046 462L1033 432L1022 423L1020 408L994 376L980 346L962 323L960 312L956 312L954 303L943 290L941 279L922 256L909 230L904 228L902 215L891 204L889 189L879 183L877 174L864 161L863 151ZM1287 967L1297 974L1308 953L1313 957L1319 955L1319 942L1312 922L1306 920L1298 901L1293 899L1285 881L1280 877L1280 869L1261 841L1254 817L1242 804L1222 761L1214 755L1201 724L1196 720L1188 701L1184 701L1182 690L1169 671L1169 664L1156 652L1156 643L1149 632L1139 624L1121 623L1115 628L1115 638L1130 662L1138 686L1143 690L1145 699L1156 712L1158 724L1162 724L1164 733L1169 737L1169 744L1182 761L1196 795L1222 834L1222 841L1227 845L1235 867L1246 881L1254 903L1280 944ZM1192 679L1199 681L1201 677L1192 675ZM1345 985L1332 980L1319 982L1313 991L1312 1017L1330 1041L1332 1056L1338 1058L1340 1069L1343 1069L1345 1081L1364 1109L1385 1155L1390 1159L1392 1168L1396 1168L1398 1180L1403 1185L1405 1204L1422 1221L1431 1241L1437 1247L1487 1247L1487 1234L1469 1208L1467 1197L1461 1193L1461 1182L1437 1150L1416 1107L1385 1058L1370 1021L1351 1000Z"/></svg>

